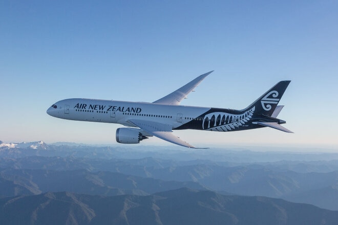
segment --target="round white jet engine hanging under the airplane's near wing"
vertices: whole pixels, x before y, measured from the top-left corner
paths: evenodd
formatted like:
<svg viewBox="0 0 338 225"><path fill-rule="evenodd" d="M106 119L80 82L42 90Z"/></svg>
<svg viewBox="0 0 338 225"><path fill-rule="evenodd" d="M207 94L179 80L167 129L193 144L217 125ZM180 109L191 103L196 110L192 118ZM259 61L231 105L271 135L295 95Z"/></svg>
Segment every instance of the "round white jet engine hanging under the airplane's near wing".
<svg viewBox="0 0 338 225"><path fill-rule="evenodd" d="M116 141L121 144L138 144L143 139L147 139L142 134L141 129L137 128L117 128Z"/></svg>

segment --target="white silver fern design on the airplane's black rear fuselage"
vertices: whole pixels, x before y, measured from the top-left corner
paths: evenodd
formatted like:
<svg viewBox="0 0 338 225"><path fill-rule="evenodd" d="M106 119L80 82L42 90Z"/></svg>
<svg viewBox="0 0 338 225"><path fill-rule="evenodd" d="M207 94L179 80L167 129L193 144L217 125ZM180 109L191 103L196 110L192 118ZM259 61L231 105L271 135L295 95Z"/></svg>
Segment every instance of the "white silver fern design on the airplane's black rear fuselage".
<svg viewBox="0 0 338 225"><path fill-rule="evenodd" d="M204 116L202 128L203 130L213 131L236 130L240 126L247 126L245 123L251 119L254 111L255 106L239 115L222 112L210 113Z"/></svg>

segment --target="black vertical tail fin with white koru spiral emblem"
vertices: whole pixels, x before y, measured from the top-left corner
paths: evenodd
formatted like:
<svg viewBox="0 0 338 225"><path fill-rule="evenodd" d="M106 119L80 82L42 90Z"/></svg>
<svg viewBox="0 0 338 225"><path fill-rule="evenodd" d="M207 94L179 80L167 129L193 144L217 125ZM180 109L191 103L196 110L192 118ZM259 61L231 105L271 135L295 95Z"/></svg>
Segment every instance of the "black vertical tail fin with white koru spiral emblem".
<svg viewBox="0 0 338 225"><path fill-rule="evenodd" d="M269 91L264 93L259 99L257 99L254 103L249 105L247 108L243 109L246 111L255 106L255 114L256 115L265 115L271 116L274 109L276 109L280 99L282 98L285 89L289 85L290 80L284 80L278 82L276 85L271 87Z"/></svg>

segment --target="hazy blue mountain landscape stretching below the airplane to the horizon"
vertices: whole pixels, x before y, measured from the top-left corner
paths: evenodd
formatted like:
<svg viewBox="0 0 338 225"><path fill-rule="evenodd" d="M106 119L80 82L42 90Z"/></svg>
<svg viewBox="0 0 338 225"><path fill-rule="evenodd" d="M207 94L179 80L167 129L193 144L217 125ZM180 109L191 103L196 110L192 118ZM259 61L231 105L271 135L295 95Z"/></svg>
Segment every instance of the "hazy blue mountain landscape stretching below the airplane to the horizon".
<svg viewBox="0 0 338 225"><path fill-rule="evenodd" d="M338 153L0 142L0 196L1 224L336 224Z"/></svg>

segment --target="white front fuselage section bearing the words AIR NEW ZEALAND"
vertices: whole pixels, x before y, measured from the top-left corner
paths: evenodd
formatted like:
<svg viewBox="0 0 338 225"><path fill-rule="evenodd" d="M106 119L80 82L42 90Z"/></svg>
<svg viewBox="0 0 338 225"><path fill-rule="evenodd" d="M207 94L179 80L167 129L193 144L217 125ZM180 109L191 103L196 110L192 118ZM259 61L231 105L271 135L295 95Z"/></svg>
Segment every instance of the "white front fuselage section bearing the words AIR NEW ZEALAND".
<svg viewBox="0 0 338 225"><path fill-rule="evenodd" d="M57 108L51 106L47 113L61 119L117 123L132 127L135 125L128 122L130 119L141 119L167 124L173 129L196 119L210 109L207 107L80 98L61 100L54 105Z"/></svg>

